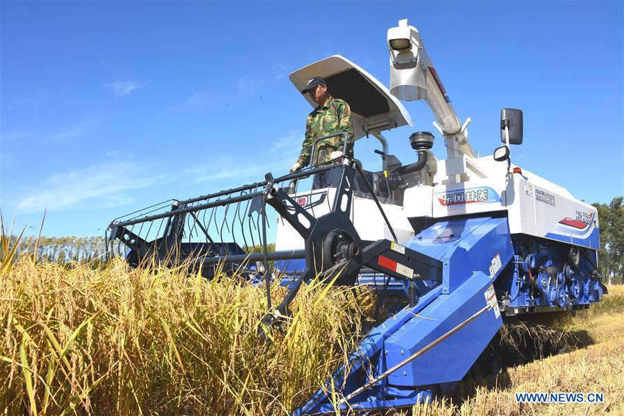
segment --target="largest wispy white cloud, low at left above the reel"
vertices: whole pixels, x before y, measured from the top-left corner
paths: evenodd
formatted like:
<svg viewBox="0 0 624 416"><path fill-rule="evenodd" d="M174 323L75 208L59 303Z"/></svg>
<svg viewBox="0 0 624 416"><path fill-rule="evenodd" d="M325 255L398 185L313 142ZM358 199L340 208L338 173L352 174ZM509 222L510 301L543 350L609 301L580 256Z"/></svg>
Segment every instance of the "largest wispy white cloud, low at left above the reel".
<svg viewBox="0 0 624 416"><path fill-rule="evenodd" d="M69 173L57 173L45 182L45 190L17 202L18 211L40 212L81 208L117 207L132 201L124 191L165 182L165 175L146 175L131 162L101 164Z"/></svg>

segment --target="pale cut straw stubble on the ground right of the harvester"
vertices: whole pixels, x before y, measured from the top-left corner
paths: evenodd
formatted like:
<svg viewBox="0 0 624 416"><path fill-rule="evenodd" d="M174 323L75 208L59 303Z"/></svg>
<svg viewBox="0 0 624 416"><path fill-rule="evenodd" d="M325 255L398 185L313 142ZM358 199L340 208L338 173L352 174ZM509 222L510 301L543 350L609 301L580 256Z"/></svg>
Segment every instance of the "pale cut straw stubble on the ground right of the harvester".
<svg viewBox="0 0 624 416"><path fill-rule="evenodd" d="M624 287L612 286L600 305L573 319L554 320L548 336L591 345L505 370L460 385L466 395L455 404L415 406L414 415L624 415ZM543 341L536 341L537 343ZM538 344L536 344L538 345ZM514 392L602 392L602 404L518 404Z"/></svg>

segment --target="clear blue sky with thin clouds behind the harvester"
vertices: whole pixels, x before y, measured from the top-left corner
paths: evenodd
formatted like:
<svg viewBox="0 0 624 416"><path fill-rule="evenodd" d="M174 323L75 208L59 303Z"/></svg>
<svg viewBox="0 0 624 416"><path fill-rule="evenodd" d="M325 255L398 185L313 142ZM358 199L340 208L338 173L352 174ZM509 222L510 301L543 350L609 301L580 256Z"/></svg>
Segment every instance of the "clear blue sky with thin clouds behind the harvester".
<svg viewBox="0 0 624 416"><path fill-rule="evenodd" d="M101 235L112 218L285 173L311 107L288 80L341 54L389 84L386 31L419 28L471 144L587 202L623 193L622 2L0 3L0 208L36 233ZM388 132L391 153L430 130ZM436 132L435 152L446 157ZM357 151L357 147L356 147ZM364 160L368 157L358 155ZM30 228L34 227L34 228Z"/></svg>

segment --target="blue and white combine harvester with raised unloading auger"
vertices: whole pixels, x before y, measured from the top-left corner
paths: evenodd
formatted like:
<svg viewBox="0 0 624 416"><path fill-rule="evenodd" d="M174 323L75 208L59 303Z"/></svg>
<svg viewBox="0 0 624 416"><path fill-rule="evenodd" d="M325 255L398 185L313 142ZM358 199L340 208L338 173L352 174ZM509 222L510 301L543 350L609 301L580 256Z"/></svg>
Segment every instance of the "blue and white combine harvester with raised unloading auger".
<svg viewBox="0 0 624 416"><path fill-rule="evenodd" d="M459 121L416 28L401 20L387 41L390 90L338 55L290 75L297 90L312 76L326 78L332 95L351 106L355 138L379 141L381 171L344 157L165 201L108 227L110 252L133 266L149 259L185 261L189 271L206 277L220 268L266 282L271 313L261 335L284 324L301 284L317 275L380 291L389 318L364 336L349 365L296 414L410 406L445 395L503 318L587 309L606 293L597 270L596 209L509 161L510 145L522 143L522 112L503 109L503 146L494 157L475 157L466 130L470 119ZM430 132L410 135L416 162L403 165L389 153L382 132L411 126L400 101L414 100L424 100L435 114L446 159L430 152ZM296 191L321 173L337 178L337 187ZM276 233L275 252L267 250L269 232ZM269 281L276 277L289 293L273 306Z"/></svg>

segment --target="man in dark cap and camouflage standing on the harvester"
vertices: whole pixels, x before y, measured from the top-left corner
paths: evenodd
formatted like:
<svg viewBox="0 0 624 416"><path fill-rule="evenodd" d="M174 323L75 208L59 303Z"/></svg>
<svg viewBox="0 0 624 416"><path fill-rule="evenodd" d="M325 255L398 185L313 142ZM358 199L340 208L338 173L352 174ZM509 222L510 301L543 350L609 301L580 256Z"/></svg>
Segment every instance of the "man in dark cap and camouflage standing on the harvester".
<svg viewBox="0 0 624 416"><path fill-rule="evenodd" d="M314 103L317 103L318 107L307 116L301 155L290 168L290 173L296 172L310 163L310 153L312 153L314 140L333 133L346 133L348 136L347 155L353 156L353 138L355 135L353 134L349 105L346 101L333 98L328 92L326 80L320 76L315 76L307 81L307 86L301 91L301 94L307 93L310 93L310 98ZM327 164L332 160L337 161L344 150L343 142L344 136L341 135L319 141L314 149L312 166ZM321 173L314 177L314 189L332 186L332 182L334 181L330 180L327 175Z"/></svg>

